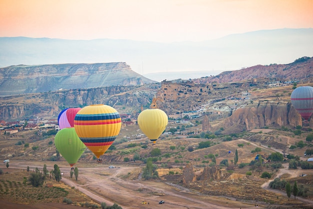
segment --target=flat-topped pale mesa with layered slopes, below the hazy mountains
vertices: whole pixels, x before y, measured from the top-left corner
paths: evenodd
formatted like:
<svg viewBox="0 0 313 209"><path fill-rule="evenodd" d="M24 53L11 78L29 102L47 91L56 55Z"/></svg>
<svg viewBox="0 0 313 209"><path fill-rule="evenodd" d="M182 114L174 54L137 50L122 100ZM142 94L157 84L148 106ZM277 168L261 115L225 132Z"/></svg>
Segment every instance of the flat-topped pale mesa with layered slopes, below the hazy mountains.
<svg viewBox="0 0 313 209"><path fill-rule="evenodd" d="M0 68L0 96L155 83L124 62Z"/></svg>

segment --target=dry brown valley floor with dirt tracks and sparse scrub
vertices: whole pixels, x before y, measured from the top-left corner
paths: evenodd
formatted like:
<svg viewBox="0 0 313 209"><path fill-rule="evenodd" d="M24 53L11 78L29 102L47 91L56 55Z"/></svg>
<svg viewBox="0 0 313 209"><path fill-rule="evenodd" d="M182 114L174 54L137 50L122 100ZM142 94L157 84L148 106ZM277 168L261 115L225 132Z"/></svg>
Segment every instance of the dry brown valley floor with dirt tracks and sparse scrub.
<svg viewBox="0 0 313 209"><path fill-rule="evenodd" d="M200 127L196 127L200 128ZM125 126L121 131L121 136L135 135L137 126ZM247 140L249 136L254 136L255 140ZM116 150L108 152L102 156L103 163L97 164L92 159L90 152L85 152L75 166L79 169L78 181L69 178L69 166L61 157L60 161L48 161L48 157L55 154L55 147L49 144L53 137L37 140L37 136L31 135L31 132L25 132L24 136L16 138L5 138L0 140L0 151L3 158L10 159L9 168L1 163L0 168L4 174L0 175L0 208L14 208L16 203L25 204L28 208L71 208L85 201L92 203L106 202L111 205L116 202L124 209L127 208L159 208L159 200L165 200L163 208L254 208L254 204L259 207L281 206L288 203L288 206L298 207L302 200L298 197L294 200L292 197L288 200L285 191L268 190L264 185L273 180L275 176L293 182L296 180L299 184L309 186L313 189L313 173L311 170L289 170L284 163L282 173L272 169L270 163L266 163L261 172L272 174L271 179L260 178L259 172L253 171L250 176L246 172L250 170L249 166L243 168L234 168L232 160L235 150L238 151L238 164L249 163L254 160L255 153L251 153L256 147L261 148L261 154L270 154L275 151L290 152L300 156L300 159L306 160L303 156L303 150L306 147L294 150L285 150L284 148L297 143L299 140L305 141L307 133L301 136L294 136L291 132L274 129L256 129L245 133L241 138L231 141L222 141L220 138L210 139L211 146L204 149L194 149L188 151L188 147L196 148L199 142L207 141L200 138L179 138L164 137L157 140L152 145L146 138L138 138L133 141L116 144ZM5 136L7 137L7 136ZM270 138L270 140L267 140ZM18 141L29 143L29 147L15 145ZM119 141L121 139L117 139ZM128 147L129 144L136 143L134 147ZM242 148L238 144L243 144ZM142 145L147 145L142 148ZM33 150L32 147L38 146ZM174 146L174 149L169 147ZM135 152L140 157L150 156L151 150L158 148L161 156L158 156L154 163L158 165L160 179L145 181L140 179L140 171L145 166L142 161L123 162L124 157L132 159ZM165 155L169 154L169 155ZM214 154L216 163L227 159L231 170L223 169L224 178L220 181L197 181L188 185L178 185L181 180L182 168L186 163L192 163L196 173L200 173L203 166L207 166L211 159L207 156ZM160 158L159 158L160 157ZM209 161L209 162L207 162ZM52 187L33 188L24 185L23 177L29 173L26 172L27 165L32 171L35 167L40 170L43 164L53 168L57 164L64 173L62 182L47 181ZM114 164L116 169L108 169L108 165ZM167 164L167 166L162 166ZM174 171L175 175L168 175L169 171ZM8 172L7 174L5 174ZM305 177L299 177L301 173L307 174ZM18 176L20 175L20 176ZM65 184L64 184L65 183ZM310 190L310 192L313 192ZM84 194L82 194L84 193ZM312 194L312 193L310 193ZM64 196L70 198L74 205L62 203ZM309 199L313 195L309 196ZM149 202L148 205L141 205L141 201ZM304 199L306 200L306 199ZM9 204L12 202L14 204ZM308 204L303 203L302 208L309 208ZM43 206L44 205L44 206ZM312 203L313 205L313 203ZM76 207L78 207L76 206ZM20 207L20 205L17 205Z"/></svg>

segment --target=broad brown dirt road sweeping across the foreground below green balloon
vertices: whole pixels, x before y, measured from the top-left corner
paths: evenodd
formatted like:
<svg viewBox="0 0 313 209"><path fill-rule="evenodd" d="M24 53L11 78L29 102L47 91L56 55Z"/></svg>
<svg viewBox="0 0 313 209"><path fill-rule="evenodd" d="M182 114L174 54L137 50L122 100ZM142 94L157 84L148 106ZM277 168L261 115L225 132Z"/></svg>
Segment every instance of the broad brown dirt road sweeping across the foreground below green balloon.
<svg viewBox="0 0 313 209"><path fill-rule="evenodd" d="M29 164L30 169L42 167L42 162L16 162L11 167L24 168ZM30 165L31 164L31 165ZM48 170L53 168L53 162L46 162ZM131 172L137 172L138 167L123 166L108 168L108 165L95 164L79 166L78 181L69 176L68 165L59 164L63 173L62 181L74 186L95 201L112 205L114 202L124 209L132 208L254 208L254 203L240 202L233 198L201 195L183 187L175 187L161 181L124 180ZM158 204L164 200L164 204ZM147 204L141 204L146 201ZM260 207L261 208L261 207Z"/></svg>

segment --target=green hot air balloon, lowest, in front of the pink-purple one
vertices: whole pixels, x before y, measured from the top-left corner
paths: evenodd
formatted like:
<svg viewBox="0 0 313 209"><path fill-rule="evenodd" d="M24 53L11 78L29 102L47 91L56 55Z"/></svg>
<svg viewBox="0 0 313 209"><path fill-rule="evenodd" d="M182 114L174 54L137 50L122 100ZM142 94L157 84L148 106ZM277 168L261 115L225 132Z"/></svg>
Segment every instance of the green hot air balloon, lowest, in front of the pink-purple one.
<svg viewBox="0 0 313 209"><path fill-rule="evenodd" d="M86 146L77 136L74 128L63 128L54 137L54 144L58 152L64 157L70 166L73 166Z"/></svg>

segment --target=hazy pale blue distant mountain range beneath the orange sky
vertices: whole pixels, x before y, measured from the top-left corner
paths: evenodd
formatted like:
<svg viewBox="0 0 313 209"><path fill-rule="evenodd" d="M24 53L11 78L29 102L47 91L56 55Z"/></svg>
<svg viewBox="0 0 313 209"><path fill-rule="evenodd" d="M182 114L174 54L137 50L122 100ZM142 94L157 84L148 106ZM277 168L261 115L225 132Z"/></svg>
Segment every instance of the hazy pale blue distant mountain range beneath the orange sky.
<svg viewBox="0 0 313 209"><path fill-rule="evenodd" d="M125 62L141 75L208 71L209 76L212 71L286 64L299 57L313 57L312 37L311 28L263 30L209 41L172 43L0 37L0 67Z"/></svg>

